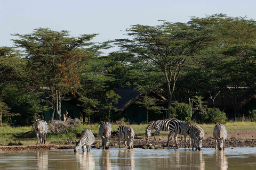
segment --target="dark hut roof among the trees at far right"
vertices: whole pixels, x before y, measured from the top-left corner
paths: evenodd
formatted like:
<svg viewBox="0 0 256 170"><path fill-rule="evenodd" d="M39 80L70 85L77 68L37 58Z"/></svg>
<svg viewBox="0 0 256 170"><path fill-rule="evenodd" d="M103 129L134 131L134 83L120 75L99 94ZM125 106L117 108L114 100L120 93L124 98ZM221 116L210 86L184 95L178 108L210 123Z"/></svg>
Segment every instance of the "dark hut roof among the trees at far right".
<svg viewBox="0 0 256 170"><path fill-rule="evenodd" d="M232 104L235 103L234 101L237 101L237 106L236 109L241 108L242 106L244 106L245 104L249 103L249 101L251 101L252 99L256 99L256 92L253 89L240 89L240 90L244 90L244 93L241 95L232 95L232 91L234 89L231 88L226 88L226 89L222 89L222 92L219 92L218 94L215 94L212 96L212 98L214 99L214 106L217 108L226 108L226 109L234 109L234 106ZM223 94L223 98L222 98L222 94ZM206 99L206 105L208 107L213 107L213 102L210 98Z"/></svg>

